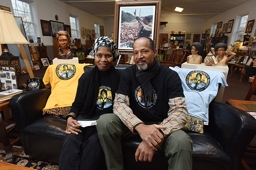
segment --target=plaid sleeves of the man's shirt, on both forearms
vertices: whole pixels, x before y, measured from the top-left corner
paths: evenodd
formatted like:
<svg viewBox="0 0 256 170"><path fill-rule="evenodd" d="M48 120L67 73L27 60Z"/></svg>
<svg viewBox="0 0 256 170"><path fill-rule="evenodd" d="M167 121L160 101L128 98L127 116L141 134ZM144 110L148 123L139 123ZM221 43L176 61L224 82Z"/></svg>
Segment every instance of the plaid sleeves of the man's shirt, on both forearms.
<svg viewBox="0 0 256 170"><path fill-rule="evenodd" d="M160 124L167 127L166 129L161 129L164 133L164 138L172 132L183 128L187 122L189 114L185 103L185 97L169 99L168 104L170 106L168 117ZM129 97L116 93L113 105L114 114L116 114L133 133L136 133L135 127L138 124L143 123L143 121L133 114L132 109L129 106Z"/></svg>

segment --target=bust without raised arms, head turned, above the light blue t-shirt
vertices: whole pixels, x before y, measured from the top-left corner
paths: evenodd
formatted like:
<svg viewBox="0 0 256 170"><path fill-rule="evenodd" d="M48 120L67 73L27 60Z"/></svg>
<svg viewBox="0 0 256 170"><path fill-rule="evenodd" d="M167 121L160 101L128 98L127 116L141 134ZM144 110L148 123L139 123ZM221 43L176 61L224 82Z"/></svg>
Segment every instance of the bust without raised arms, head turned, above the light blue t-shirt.
<svg viewBox="0 0 256 170"><path fill-rule="evenodd" d="M202 63L202 56L198 53L202 52L203 46L199 42L194 42L191 48L191 55L187 57L187 63L189 64L201 64Z"/></svg>

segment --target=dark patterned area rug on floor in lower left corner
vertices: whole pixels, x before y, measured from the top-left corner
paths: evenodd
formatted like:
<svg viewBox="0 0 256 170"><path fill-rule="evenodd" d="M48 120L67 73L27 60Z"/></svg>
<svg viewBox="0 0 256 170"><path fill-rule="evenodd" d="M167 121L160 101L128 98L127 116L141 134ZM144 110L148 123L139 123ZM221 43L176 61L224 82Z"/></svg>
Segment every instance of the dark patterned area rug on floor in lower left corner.
<svg viewBox="0 0 256 170"><path fill-rule="evenodd" d="M58 164L52 162L43 162L40 160L30 160L21 146L13 146L13 164L30 167L37 170L58 170ZM5 150L0 149L0 161L5 162Z"/></svg>

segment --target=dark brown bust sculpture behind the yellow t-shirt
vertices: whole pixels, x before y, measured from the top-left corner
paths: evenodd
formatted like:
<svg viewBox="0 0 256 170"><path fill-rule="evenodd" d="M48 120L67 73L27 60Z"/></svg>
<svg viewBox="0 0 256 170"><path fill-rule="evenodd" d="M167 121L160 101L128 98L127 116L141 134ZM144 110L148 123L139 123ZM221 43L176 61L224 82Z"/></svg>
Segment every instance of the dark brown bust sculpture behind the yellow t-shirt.
<svg viewBox="0 0 256 170"><path fill-rule="evenodd" d="M61 50L58 54L58 59L73 59L73 54L68 48L68 44L70 42L70 35L67 31L59 31L57 34L57 39L59 42L59 46Z"/></svg>

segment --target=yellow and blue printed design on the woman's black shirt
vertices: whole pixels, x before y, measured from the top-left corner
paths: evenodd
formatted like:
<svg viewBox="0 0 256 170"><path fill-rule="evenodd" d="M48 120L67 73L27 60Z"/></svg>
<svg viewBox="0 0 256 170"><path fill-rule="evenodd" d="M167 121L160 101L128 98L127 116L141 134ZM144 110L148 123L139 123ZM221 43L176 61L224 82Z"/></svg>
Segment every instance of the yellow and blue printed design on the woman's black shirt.
<svg viewBox="0 0 256 170"><path fill-rule="evenodd" d="M108 86L100 86L96 106L98 109L103 110L113 104L111 88Z"/></svg>

